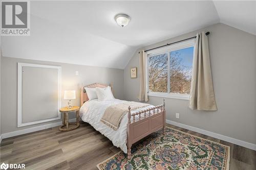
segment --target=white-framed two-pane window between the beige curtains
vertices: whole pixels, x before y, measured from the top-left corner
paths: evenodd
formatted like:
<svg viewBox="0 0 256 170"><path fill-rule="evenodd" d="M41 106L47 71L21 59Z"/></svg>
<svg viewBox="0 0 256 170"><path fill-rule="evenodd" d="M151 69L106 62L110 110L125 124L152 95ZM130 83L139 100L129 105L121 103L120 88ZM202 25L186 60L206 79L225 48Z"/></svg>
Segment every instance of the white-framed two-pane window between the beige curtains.
<svg viewBox="0 0 256 170"><path fill-rule="evenodd" d="M188 100L194 39L147 53L148 95Z"/></svg>

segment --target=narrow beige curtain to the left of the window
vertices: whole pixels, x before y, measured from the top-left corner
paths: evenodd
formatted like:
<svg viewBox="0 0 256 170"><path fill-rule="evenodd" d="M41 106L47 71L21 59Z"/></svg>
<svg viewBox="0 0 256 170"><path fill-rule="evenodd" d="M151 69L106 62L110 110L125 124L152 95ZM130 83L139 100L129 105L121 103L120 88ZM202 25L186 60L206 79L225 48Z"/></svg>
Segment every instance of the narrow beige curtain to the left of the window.
<svg viewBox="0 0 256 170"><path fill-rule="evenodd" d="M146 88L146 53L144 50L139 53L140 59L140 92L139 92L139 101L148 101L147 98L147 88Z"/></svg>

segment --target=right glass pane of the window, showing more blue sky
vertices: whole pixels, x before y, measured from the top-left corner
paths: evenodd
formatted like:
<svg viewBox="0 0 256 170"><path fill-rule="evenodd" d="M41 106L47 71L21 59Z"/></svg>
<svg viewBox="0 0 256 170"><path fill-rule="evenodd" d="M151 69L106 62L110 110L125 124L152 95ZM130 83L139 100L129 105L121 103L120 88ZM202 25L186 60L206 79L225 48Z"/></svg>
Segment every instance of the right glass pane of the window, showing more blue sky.
<svg viewBox="0 0 256 170"><path fill-rule="evenodd" d="M190 93L194 47L170 52L170 92Z"/></svg>

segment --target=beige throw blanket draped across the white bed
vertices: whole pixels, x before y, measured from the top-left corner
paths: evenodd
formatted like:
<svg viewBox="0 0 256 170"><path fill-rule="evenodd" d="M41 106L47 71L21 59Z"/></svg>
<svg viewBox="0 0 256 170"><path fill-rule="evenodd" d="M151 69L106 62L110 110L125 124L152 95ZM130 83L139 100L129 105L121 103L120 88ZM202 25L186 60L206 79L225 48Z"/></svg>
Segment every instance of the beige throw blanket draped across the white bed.
<svg viewBox="0 0 256 170"><path fill-rule="evenodd" d="M123 116L126 113L128 113L129 106L131 107L131 110L136 110L150 105L138 102L124 102L112 105L106 108L100 121L103 122L105 125L108 125L109 127L113 128L114 130L117 130L120 126Z"/></svg>

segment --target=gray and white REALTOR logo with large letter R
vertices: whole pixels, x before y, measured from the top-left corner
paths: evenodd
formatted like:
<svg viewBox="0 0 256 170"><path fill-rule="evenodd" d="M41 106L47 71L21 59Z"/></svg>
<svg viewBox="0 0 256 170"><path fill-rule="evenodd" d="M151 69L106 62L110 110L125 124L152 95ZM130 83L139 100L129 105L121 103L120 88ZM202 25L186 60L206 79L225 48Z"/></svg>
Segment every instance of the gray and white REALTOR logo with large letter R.
<svg viewBox="0 0 256 170"><path fill-rule="evenodd" d="M29 1L1 2L1 35L30 35Z"/></svg>

